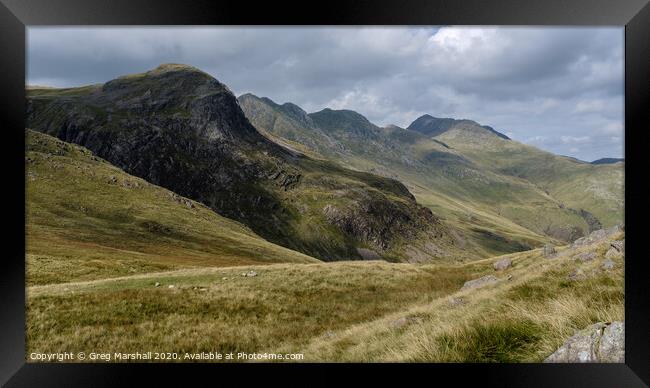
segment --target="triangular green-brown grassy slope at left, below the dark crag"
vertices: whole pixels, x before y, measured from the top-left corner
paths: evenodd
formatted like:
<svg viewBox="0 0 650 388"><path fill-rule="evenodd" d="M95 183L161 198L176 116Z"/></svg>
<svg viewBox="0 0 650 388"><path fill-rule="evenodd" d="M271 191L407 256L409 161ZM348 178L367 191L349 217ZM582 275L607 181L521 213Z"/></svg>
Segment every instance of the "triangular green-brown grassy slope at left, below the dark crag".
<svg viewBox="0 0 650 388"><path fill-rule="evenodd" d="M269 243L206 206L85 148L26 131L27 283L316 259Z"/></svg>

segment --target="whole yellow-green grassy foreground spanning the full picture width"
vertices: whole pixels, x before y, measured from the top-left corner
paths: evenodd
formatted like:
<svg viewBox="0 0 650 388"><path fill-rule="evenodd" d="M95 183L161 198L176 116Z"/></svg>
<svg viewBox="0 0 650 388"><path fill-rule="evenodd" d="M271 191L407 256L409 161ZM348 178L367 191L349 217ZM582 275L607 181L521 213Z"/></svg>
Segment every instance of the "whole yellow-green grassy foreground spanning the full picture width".
<svg viewBox="0 0 650 388"><path fill-rule="evenodd" d="M623 234L611 239L621 239ZM378 261L199 268L27 290L27 350L302 353L308 361L537 362L597 321L623 317L609 239L470 264ZM593 261L574 256L595 252ZM579 269L584 278L571 280ZM249 270L255 277L241 276ZM483 275L495 283L460 290ZM160 286L156 287L156 283ZM451 304L450 297L461 298ZM187 361L187 360L180 360Z"/></svg>

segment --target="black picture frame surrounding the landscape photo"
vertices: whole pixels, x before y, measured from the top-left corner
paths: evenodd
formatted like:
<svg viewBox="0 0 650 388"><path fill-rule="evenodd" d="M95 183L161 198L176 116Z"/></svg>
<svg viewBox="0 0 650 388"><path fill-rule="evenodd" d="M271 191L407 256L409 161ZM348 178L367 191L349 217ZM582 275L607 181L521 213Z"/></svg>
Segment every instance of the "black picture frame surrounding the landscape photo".
<svg viewBox="0 0 650 388"><path fill-rule="evenodd" d="M642 233L647 191L644 148L650 111L648 0L330 0L317 3L168 0L0 0L0 112L5 238L0 271L0 383L19 386L219 385L278 377L298 385L420 374L453 385L636 387L650 384L649 275ZM625 26L625 364L28 364L25 362L25 31L36 25L582 25ZM399 370L398 370L399 369ZM296 372L307 372L298 378ZM303 375L305 376L305 375ZM366 380L366 383L369 380ZM165 384L167 385L167 384Z"/></svg>

